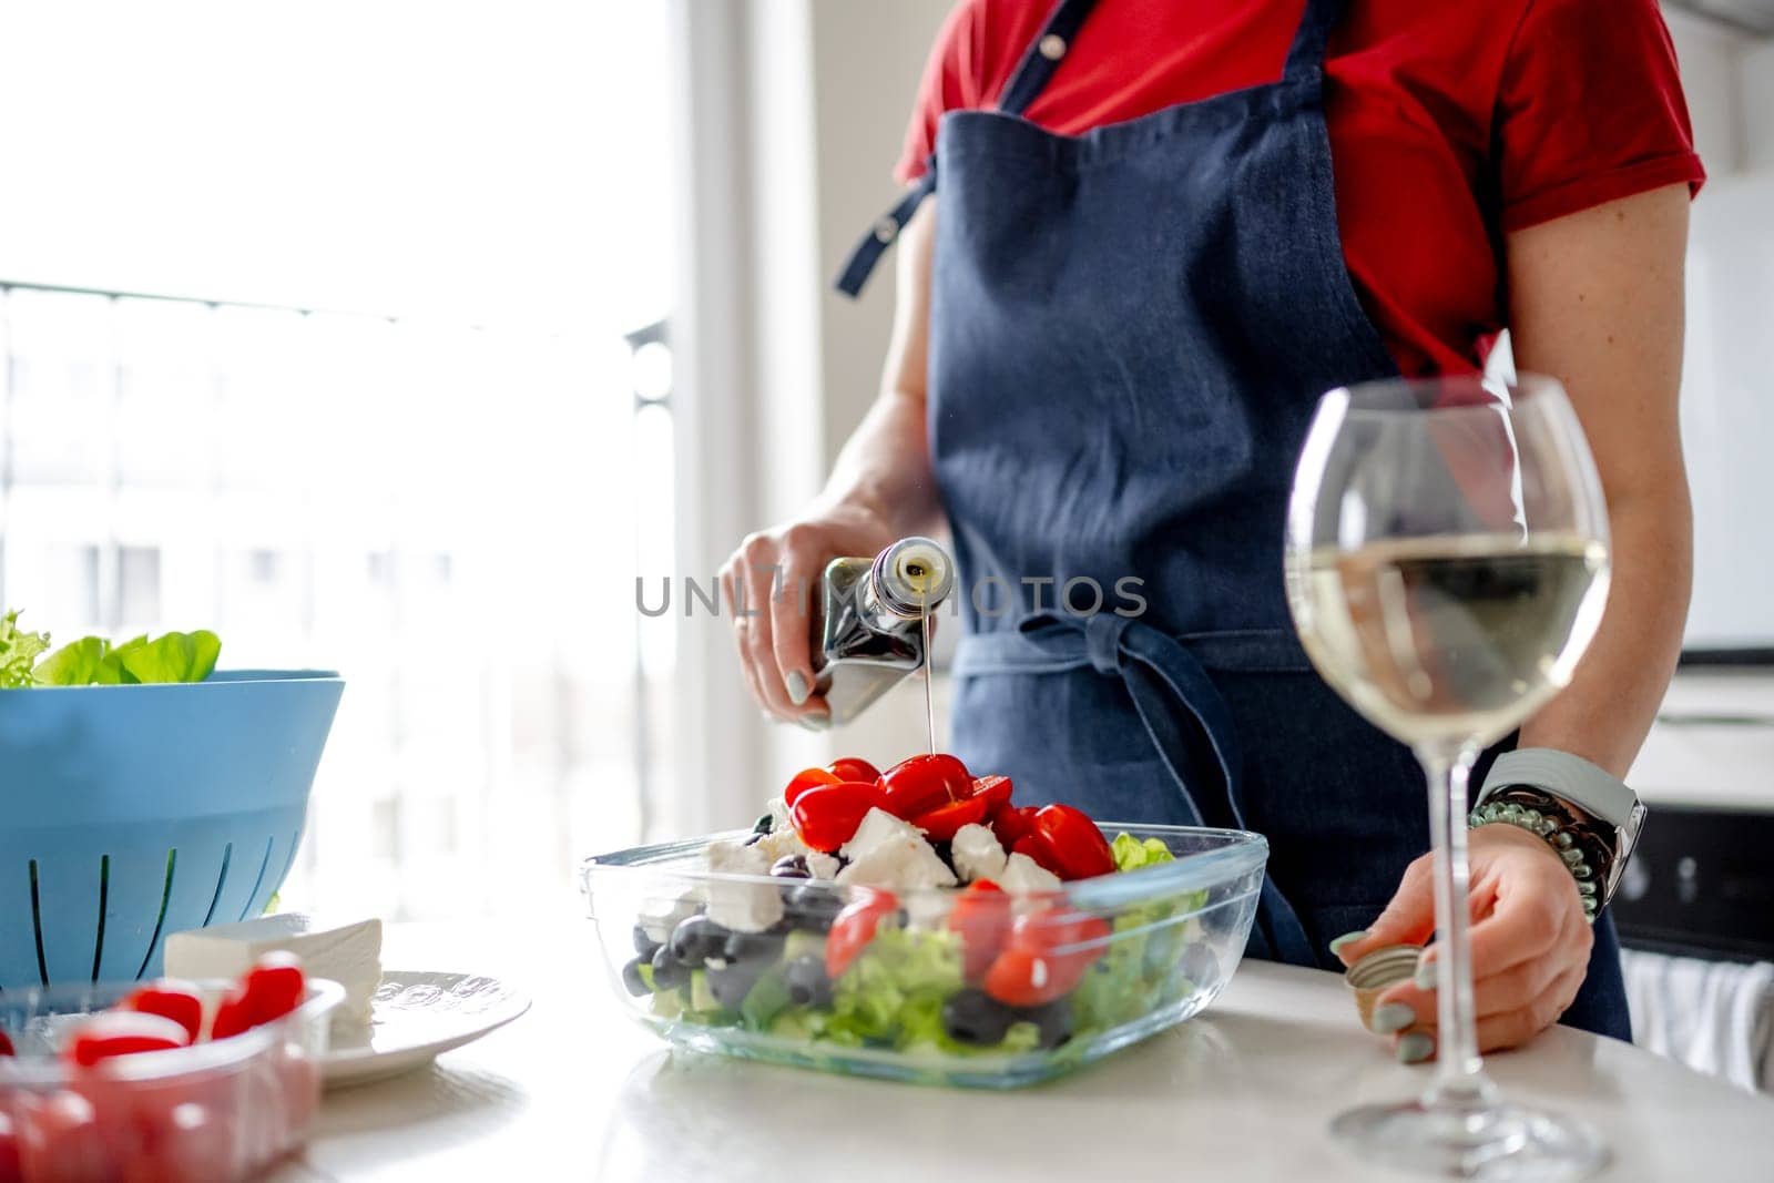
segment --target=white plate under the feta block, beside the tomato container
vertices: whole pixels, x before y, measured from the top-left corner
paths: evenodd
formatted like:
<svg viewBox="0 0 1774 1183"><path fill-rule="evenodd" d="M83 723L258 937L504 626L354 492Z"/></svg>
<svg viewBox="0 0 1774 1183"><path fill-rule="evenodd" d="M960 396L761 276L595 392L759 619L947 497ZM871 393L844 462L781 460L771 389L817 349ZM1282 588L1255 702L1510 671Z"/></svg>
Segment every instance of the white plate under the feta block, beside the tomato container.
<svg viewBox="0 0 1774 1183"><path fill-rule="evenodd" d="M321 1077L328 1085L399 1077L527 1009L529 995L497 977L383 970L369 1025L334 1025Z"/></svg>

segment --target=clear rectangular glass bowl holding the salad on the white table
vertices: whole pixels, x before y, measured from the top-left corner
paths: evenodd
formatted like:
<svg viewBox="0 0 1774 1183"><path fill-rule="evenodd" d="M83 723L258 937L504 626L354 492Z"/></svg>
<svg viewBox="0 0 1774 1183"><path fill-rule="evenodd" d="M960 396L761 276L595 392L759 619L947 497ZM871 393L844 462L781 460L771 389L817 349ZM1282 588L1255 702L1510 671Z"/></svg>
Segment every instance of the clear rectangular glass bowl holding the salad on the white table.
<svg viewBox="0 0 1774 1183"><path fill-rule="evenodd" d="M743 841L738 830L587 858L580 878L610 984L674 1045L1008 1089L1199 1013L1231 979L1251 935L1268 860L1261 835L1100 828L1128 835L1118 842L1137 842L1155 860L1038 894L885 894L710 871L706 850ZM1171 858L1157 862L1166 851ZM743 915L763 892L782 897L781 908L766 901L761 910L781 917L763 931L731 931L706 915ZM1008 991L992 977L1006 951L1020 951L1020 1006L1002 1002Z"/></svg>

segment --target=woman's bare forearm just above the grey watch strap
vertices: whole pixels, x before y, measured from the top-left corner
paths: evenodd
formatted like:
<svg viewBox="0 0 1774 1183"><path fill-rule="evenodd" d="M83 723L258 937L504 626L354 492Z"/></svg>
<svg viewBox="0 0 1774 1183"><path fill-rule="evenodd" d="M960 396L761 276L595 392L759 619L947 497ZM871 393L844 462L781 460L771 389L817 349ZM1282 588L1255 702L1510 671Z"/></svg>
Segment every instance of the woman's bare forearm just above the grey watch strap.
<svg viewBox="0 0 1774 1183"><path fill-rule="evenodd" d="M1691 578L1687 486L1609 507L1607 612L1570 686L1522 727L1522 747L1582 756L1625 777L1682 649Z"/></svg>

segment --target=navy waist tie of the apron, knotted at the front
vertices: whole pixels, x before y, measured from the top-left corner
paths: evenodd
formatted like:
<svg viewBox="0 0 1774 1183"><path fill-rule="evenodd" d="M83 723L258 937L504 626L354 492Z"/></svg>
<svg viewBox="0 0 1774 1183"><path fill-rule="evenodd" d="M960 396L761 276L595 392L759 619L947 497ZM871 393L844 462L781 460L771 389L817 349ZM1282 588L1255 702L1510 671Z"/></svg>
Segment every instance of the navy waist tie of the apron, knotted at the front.
<svg viewBox="0 0 1774 1183"><path fill-rule="evenodd" d="M1258 649L1270 647L1265 633L1251 637L1261 639ZM1059 672L1086 665L1121 678L1189 811L1205 825L1247 828L1238 809L1242 756L1231 708L1196 654L1157 628L1102 612L1089 617L1043 612L1022 621L1015 633L967 637L956 674ZM1205 800L1190 787L1203 779L1217 780L1212 786L1217 793ZM1258 928L1270 956L1293 965L1318 963L1306 928L1268 874Z"/></svg>

